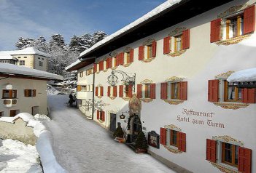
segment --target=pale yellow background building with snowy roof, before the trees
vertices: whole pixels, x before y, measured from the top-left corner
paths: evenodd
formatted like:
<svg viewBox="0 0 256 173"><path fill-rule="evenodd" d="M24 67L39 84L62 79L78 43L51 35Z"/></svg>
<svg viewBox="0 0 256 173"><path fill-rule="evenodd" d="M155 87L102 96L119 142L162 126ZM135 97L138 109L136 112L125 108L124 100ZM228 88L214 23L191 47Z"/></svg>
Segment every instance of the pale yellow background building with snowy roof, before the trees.
<svg viewBox="0 0 256 173"><path fill-rule="evenodd" d="M27 47L16 51L1 51L0 63L11 63L39 71L47 71L49 57L50 55L34 47Z"/></svg>

